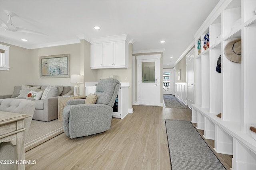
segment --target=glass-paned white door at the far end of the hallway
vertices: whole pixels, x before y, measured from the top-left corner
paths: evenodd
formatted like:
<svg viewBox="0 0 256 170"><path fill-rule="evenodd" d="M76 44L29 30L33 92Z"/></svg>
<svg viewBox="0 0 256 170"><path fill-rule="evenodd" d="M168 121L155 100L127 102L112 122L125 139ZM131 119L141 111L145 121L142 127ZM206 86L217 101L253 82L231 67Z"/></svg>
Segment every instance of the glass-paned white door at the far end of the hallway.
<svg viewBox="0 0 256 170"><path fill-rule="evenodd" d="M172 94L172 70L163 69L163 93Z"/></svg>

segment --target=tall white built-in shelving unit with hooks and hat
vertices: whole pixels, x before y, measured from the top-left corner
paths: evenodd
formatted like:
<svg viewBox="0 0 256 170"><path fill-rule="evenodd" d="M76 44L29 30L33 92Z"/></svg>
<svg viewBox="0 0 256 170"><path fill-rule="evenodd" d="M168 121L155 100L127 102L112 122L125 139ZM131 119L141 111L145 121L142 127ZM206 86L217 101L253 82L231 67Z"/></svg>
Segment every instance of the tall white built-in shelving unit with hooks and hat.
<svg viewBox="0 0 256 170"><path fill-rule="evenodd" d="M232 155L232 170L256 169L256 140L250 125L256 124L256 0L220 0L194 36L209 32L209 48L201 45L195 57L196 100L192 122L214 140L214 150ZM242 39L242 63L228 60L226 44ZM202 41L201 41L202 43ZM216 72L222 55L222 72ZM222 113L219 118L216 115Z"/></svg>

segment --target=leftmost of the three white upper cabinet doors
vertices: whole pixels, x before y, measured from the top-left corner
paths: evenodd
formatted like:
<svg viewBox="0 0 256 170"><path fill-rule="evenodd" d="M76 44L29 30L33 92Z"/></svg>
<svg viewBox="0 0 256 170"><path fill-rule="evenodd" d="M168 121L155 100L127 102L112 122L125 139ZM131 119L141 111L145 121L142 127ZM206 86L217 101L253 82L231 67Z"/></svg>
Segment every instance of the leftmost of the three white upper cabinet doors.
<svg viewBox="0 0 256 170"><path fill-rule="evenodd" d="M91 45L91 67L101 67L103 64L102 43Z"/></svg>

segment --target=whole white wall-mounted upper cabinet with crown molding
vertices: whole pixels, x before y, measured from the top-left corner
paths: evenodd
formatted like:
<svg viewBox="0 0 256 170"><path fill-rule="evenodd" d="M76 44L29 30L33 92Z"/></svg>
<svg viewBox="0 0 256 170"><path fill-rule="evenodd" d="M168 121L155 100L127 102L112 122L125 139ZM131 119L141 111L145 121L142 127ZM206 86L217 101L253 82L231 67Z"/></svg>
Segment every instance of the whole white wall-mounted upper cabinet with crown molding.
<svg viewBox="0 0 256 170"><path fill-rule="evenodd" d="M127 34L93 39L91 68L128 68Z"/></svg>

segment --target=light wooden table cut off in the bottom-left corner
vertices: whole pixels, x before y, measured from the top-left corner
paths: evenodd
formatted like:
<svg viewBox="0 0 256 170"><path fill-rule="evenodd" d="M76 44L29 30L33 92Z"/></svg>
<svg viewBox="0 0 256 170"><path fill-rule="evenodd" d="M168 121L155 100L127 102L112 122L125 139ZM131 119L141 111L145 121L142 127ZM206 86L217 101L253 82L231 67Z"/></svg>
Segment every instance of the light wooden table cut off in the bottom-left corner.
<svg viewBox="0 0 256 170"><path fill-rule="evenodd" d="M29 115L0 111L0 143L10 142L14 145L14 169L25 170L25 164L17 161L25 160L24 119ZM2 154L2 153L1 153Z"/></svg>

